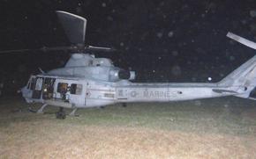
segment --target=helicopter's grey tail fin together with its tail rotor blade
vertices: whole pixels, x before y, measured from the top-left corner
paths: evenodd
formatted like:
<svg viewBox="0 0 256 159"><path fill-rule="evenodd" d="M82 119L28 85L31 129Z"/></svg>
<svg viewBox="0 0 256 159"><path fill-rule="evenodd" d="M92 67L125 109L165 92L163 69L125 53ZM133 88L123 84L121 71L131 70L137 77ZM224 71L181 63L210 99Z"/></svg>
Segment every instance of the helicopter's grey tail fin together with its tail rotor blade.
<svg viewBox="0 0 256 159"><path fill-rule="evenodd" d="M227 36L247 47L256 49L256 43L250 40L245 40L234 33L228 33ZM239 93L236 95L237 97L248 98L250 92L256 86L256 55L231 72L230 75L222 79L219 85L223 87L232 87L233 90Z"/></svg>

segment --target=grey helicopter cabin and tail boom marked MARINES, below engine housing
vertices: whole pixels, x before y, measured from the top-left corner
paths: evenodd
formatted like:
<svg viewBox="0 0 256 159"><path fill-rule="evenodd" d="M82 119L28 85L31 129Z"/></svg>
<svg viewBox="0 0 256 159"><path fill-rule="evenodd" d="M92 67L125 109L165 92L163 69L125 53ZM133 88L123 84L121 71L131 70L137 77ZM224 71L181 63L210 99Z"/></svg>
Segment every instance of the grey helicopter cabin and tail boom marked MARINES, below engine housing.
<svg viewBox="0 0 256 159"><path fill-rule="evenodd" d="M65 108L87 108L131 102L169 102L229 96L218 83L100 82L81 77L31 76L22 89L28 103L39 102Z"/></svg>

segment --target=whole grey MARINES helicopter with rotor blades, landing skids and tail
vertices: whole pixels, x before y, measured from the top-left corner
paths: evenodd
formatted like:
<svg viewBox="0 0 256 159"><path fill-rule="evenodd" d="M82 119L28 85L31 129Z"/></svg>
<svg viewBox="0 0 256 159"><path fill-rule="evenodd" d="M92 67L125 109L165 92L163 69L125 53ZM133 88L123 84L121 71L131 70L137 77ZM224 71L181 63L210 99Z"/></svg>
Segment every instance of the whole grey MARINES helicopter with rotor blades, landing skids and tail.
<svg viewBox="0 0 256 159"><path fill-rule="evenodd" d="M72 109L70 115L76 115L79 108L117 103L126 105L132 102L171 102L226 96L256 100L251 93L256 86L256 55L218 83L133 83L136 77L134 71L118 68L108 58L96 58L87 53L113 51L113 48L85 46L86 18L66 11L56 11L56 14L70 42L77 45L41 48L42 51L70 50L75 53L64 68L30 76L21 89L27 103L42 104L38 113L43 113L47 105L52 105L59 107L56 118L65 119L64 108ZM234 33L227 36L256 49L256 43L251 40Z"/></svg>

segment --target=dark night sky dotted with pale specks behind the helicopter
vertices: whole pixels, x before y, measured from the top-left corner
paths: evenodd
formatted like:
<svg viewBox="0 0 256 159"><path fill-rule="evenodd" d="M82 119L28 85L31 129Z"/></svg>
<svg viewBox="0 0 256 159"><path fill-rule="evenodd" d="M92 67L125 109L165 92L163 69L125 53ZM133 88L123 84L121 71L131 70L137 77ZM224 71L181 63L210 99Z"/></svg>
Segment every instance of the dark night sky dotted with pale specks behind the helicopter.
<svg viewBox="0 0 256 159"><path fill-rule="evenodd" d="M69 11L87 18L87 44L118 49L97 55L135 70L139 82L219 81L253 55L226 33L256 40L254 0L2 0L0 7L0 50L69 45L55 14ZM1 55L1 79L24 84L38 67L61 67L69 55Z"/></svg>

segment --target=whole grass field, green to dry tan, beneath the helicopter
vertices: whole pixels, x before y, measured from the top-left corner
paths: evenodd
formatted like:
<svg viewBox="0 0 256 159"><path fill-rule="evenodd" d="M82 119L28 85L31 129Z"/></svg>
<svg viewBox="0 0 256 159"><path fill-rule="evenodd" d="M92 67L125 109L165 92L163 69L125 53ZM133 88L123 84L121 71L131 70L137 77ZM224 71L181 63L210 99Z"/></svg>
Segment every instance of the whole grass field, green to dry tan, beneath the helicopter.
<svg viewBox="0 0 256 159"><path fill-rule="evenodd" d="M241 98L109 105L56 119L0 99L0 158L256 158L256 105Z"/></svg>

